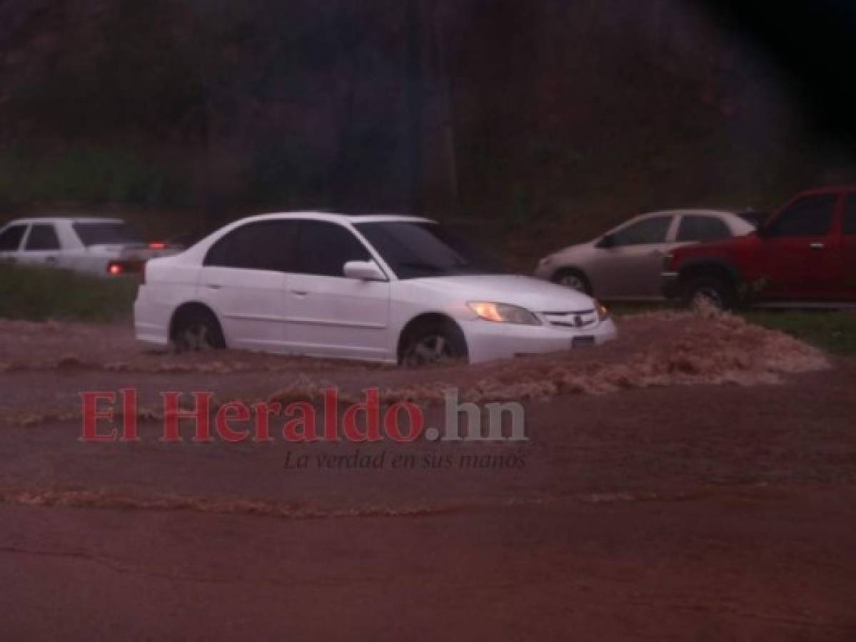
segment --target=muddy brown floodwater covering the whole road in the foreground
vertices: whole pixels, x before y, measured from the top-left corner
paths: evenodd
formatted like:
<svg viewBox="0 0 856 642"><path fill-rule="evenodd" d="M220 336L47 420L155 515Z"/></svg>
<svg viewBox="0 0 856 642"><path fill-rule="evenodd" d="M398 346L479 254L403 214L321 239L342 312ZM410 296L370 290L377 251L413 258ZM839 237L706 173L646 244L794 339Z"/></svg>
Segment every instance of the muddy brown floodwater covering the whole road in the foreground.
<svg viewBox="0 0 856 642"><path fill-rule="evenodd" d="M0 321L0 637L856 639L856 362L731 316L619 327L405 370ZM159 439L164 391L331 387L431 424L449 389L520 402L527 439ZM140 439L81 441L80 392L121 388Z"/></svg>

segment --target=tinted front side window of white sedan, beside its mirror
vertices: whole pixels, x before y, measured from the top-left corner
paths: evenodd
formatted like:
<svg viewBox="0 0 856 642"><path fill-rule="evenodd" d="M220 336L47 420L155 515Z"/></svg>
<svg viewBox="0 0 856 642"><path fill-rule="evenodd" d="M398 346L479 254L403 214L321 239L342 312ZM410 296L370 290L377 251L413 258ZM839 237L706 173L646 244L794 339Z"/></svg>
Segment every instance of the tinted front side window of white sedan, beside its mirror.
<svg viewBox="0 0 856 642"><path fill-rule="evenodd" d="M328 221L302 222L297 254L297 272L320 276L344 276L345 263L372 257L347 227Z"/></svg>

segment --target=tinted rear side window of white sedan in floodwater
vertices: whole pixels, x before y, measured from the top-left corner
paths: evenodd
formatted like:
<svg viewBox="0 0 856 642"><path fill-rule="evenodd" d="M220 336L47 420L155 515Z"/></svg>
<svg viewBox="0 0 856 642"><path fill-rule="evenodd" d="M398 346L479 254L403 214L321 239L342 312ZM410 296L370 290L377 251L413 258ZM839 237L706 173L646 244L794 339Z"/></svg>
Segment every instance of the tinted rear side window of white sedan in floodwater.
<svg viewBox="0 0 856 642"><path fill-rule="evenodd" d="M299 221L257 221L232 230L211 246L204 264L290 272Z"/></svg>

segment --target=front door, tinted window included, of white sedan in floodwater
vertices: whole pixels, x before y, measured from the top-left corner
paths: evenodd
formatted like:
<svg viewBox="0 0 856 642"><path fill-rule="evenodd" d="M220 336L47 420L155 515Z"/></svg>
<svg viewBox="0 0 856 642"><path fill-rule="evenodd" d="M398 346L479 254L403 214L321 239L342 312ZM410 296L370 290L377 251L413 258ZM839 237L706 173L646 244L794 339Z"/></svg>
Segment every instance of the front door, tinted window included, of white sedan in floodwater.
<svg viewBox="0 0 856 642"><path fill-rule="evenodd" d="M289 350L315 356L389 358L389 282L348 279L348 261L372 256L354 233L332 221L305 220L297 268L288 274Z"/></svg>

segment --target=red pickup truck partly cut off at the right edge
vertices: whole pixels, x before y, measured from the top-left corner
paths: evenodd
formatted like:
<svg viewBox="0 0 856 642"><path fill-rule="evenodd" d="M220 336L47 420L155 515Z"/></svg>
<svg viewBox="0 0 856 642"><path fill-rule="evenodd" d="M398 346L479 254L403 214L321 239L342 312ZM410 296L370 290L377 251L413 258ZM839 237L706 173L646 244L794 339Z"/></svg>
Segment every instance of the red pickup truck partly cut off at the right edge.
<svg viewBox="0 0 856 642"><path fill-rule="evenodd" d="M755 233L675 250L662 289L723 309L856 303L856 186L803 191Z"/></svg>

